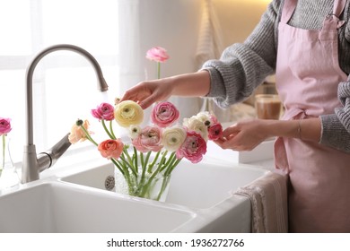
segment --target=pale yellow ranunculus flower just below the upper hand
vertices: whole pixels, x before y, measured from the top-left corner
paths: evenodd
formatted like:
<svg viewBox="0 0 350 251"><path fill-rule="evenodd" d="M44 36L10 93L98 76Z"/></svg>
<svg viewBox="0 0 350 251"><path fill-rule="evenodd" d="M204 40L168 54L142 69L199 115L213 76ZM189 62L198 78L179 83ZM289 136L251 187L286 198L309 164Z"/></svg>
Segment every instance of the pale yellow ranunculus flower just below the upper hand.
<svg viewBox="0 0 350 251"><path fill-rule="evenodd" d="M135 101L125 100L114 109L114 119L123 127L139 125L144 120L144 110Z"/></svg>

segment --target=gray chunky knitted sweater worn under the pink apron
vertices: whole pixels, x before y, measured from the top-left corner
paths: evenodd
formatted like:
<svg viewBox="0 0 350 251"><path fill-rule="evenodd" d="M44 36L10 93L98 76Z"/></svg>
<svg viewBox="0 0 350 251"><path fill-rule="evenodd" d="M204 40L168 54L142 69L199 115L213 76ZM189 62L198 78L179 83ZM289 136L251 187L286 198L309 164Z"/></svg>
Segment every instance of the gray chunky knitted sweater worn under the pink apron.
<svg viewBox="0 0 350 251"><path fill-rule="evenodd" d="M220 60L210 60L203 65L211 76L211 89L208 97L213 97L222 108L245 100L276 70L277 27L285 0L273 0L260 22L244 43L226 48ZM331 0L299 0L290 25L301 29L319 30L324 18L332 13ZM342 19L346 21L339 33L339 65L350 73L350 0L346 3ZM232 31L234 32L234 31ZM321 116L322 144L341 151L350 152L350 78L340 82L338 98L343 107L335 109L334 114Z"/></svg>

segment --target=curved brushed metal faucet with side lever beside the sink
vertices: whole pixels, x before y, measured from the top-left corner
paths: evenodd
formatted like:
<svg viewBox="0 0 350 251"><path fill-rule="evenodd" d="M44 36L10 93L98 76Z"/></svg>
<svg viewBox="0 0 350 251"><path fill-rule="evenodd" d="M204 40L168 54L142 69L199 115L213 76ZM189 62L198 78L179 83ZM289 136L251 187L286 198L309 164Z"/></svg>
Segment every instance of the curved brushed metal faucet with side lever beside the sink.
<svg viewBox="0 0 350 251"><path fill-rule="evenodd" d="M103 78L101 67L97 60L83 48L76 47L74 45L59 44L49 48L46 48L39 52L35 56L26 72L26 125L27 125L27 142L24 145L23 160L22 160L22 183L31 182L39 179L39 172L50 168L56 161L62 156L63 153L70 147L71 143L68 140L68 135L66 134L57 144L55 144L48 151L40 152L38 155L36 153L35 144L33 143L33 94L32 94L32 78L36 65L38 65L40 59L51 52L57 50L71 50L78 54L85 56L90 63L92 63L93 68L97 74L98 78L98 89L100 91L108 91L108 85Z"/></svg>

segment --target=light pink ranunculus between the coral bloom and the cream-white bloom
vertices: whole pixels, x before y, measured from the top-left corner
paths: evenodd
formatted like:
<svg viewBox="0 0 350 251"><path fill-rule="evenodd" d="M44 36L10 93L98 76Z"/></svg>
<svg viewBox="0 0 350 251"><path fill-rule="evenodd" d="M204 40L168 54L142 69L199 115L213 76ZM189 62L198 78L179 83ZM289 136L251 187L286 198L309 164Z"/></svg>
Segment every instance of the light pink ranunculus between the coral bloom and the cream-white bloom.
<svg viewBox="0 0 350 251"><path fill-rule="evenodd" d="M155 126L145 126L132 143L137 151L161 151L161 129Z"/></svg>

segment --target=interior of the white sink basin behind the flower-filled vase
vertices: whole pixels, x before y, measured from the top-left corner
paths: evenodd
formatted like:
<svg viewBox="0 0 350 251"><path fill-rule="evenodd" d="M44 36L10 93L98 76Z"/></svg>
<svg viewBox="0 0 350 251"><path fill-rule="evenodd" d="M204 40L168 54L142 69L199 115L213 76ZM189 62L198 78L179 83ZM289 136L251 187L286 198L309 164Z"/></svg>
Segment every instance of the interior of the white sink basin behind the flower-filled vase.
<svg viewBox="0 0 350 251"><path fill-rule="evenodd" d="M249 184L266 173L265 169L245 164L207 160L192 164L182 160L172 172L166 202L197 209L210 208L232 196L232 192L239 187ZM61 180L106 190L105 181L109 176L115 176L112 164L61 177Z"/></svg>

